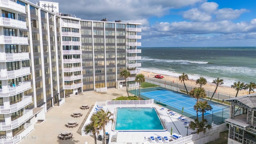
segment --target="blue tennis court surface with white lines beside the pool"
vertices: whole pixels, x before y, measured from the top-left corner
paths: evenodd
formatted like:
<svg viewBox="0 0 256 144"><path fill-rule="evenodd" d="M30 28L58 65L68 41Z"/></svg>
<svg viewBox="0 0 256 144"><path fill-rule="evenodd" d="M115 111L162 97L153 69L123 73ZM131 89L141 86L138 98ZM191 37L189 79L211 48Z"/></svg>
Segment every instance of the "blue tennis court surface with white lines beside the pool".
<svg viewBox="0 0 256 144"><path fill-rule="evenodd" d="M182 107L184 107L184 112L196 116L196 111L194 110L196 98L192 98L188 95L169 90L154 90L150 92L141 92L140 94L148 98L154 99L156 101L159 101L168 106L171 106L173 108L176 108L178 110L182 110ZM204 113L204 116L212 114L213 112L221 112L223 108L227 108L227 106L216 104L209 101L208 104L212 106L212 111L207 111L206 113ZM202 114L198 112L198 117L201 116Z"/></svg>

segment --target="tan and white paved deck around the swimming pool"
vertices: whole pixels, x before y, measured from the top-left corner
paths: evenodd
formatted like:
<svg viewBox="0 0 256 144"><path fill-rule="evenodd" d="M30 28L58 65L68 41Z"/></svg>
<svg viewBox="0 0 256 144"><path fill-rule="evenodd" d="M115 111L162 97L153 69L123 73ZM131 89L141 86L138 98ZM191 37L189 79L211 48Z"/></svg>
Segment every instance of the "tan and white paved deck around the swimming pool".
<svg viewBox="0 0 256 144"><path fill-rule="evenodd" d="M108 89L107 92L83 92L78 95L65 98L66 102L60 107L53 107L48 110L45 115L46 120L44 120L44 122L41 122L40 124L34 124L34 130L30 134L28 134L26 139L19 142L19 144L84 144L85 142L88 142L88 144L94 144L94 138L92 136L81 136L81 133L78 133L78 129L79 127L81 127L84 118L87 114L90 113L90 109L81 110L80 106L82 106L83 104L88 104L90 107L92 107L96 102L105 102L106 100L115 99L118 96L127 96L126 88L122 88L121 90L112 88ZM110 110L110 112L114 112L115 107L116 106L109 106L108 110ZM177 116L169 116L167 114L167 110L160 110L162 107L157 104L150 104L148 105L148 107L155 107L160 115L160 118L165 119L167 131L118 132L116 143L126 144L132 142L136 144L138 142L140 144L149 144L150 140L148 138L150 138L150 136L154 136L155 138L157 136L161 136L162 138L164 136L168 136L168 138L170 139L171 127L173 128L172 133L179 134L180 132L182 137L186 136L187 128L184 127L185 125L183 122L177 119L180 114L178 114ZM79 118L73 118L70 116L77 111L81 112L83 116ZM94 110L92 110L91 112L94 112ZM64 125L71 120L75 120L79 125L75 128L65 127ZM106 126L106 132L112 132L111 126L112 124L108 124ZM59 140L57 136L63 131L72 132L73 138L70 138L68 140ZM189 135L191 132L192 131L188 129ZM97 140L97 144L102 144L102 141Z"/></svg>

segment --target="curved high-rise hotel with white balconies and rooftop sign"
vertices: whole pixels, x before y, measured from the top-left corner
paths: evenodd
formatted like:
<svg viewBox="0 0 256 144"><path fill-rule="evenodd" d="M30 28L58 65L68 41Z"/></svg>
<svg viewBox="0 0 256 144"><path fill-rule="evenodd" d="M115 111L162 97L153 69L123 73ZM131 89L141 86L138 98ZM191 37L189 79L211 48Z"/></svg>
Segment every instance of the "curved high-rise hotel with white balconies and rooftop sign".
<svg viewBox="0 0 256 144"><path fill-rule="evenodd" d="M124 69L138 86L140 24L81 20L44 1L0 0L0 9L0 144L20 142L66 94L121 88Z"/></svg>

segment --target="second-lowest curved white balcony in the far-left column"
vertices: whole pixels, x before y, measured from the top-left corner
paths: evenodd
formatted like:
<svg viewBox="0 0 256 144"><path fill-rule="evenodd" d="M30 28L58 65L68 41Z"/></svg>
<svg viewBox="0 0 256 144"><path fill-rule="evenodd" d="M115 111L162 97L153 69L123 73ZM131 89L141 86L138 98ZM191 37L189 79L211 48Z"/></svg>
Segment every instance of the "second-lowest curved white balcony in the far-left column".
<svg viewBox="0 0 256 144"><path fill-rule="evenodd" d="M33 116L33 110L24 110L24 115L11 122L0 122L0 130L14 129Z"/></svg>

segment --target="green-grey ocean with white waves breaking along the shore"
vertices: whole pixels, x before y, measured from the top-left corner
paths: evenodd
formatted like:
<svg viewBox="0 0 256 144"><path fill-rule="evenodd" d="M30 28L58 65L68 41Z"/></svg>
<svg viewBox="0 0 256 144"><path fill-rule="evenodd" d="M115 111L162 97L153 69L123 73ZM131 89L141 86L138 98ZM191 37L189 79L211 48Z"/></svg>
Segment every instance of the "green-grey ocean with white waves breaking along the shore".
<svg viewBox="0 0 256 144"><path fill-rule="evenodd" d="M224 80L223 86L234 82L256 83L256 47L154 47L141 49L142 63L138 69L178 77L183 72L190 80L200 76L212 83ZM138 54L139 55L139 54Z"/></svg>

